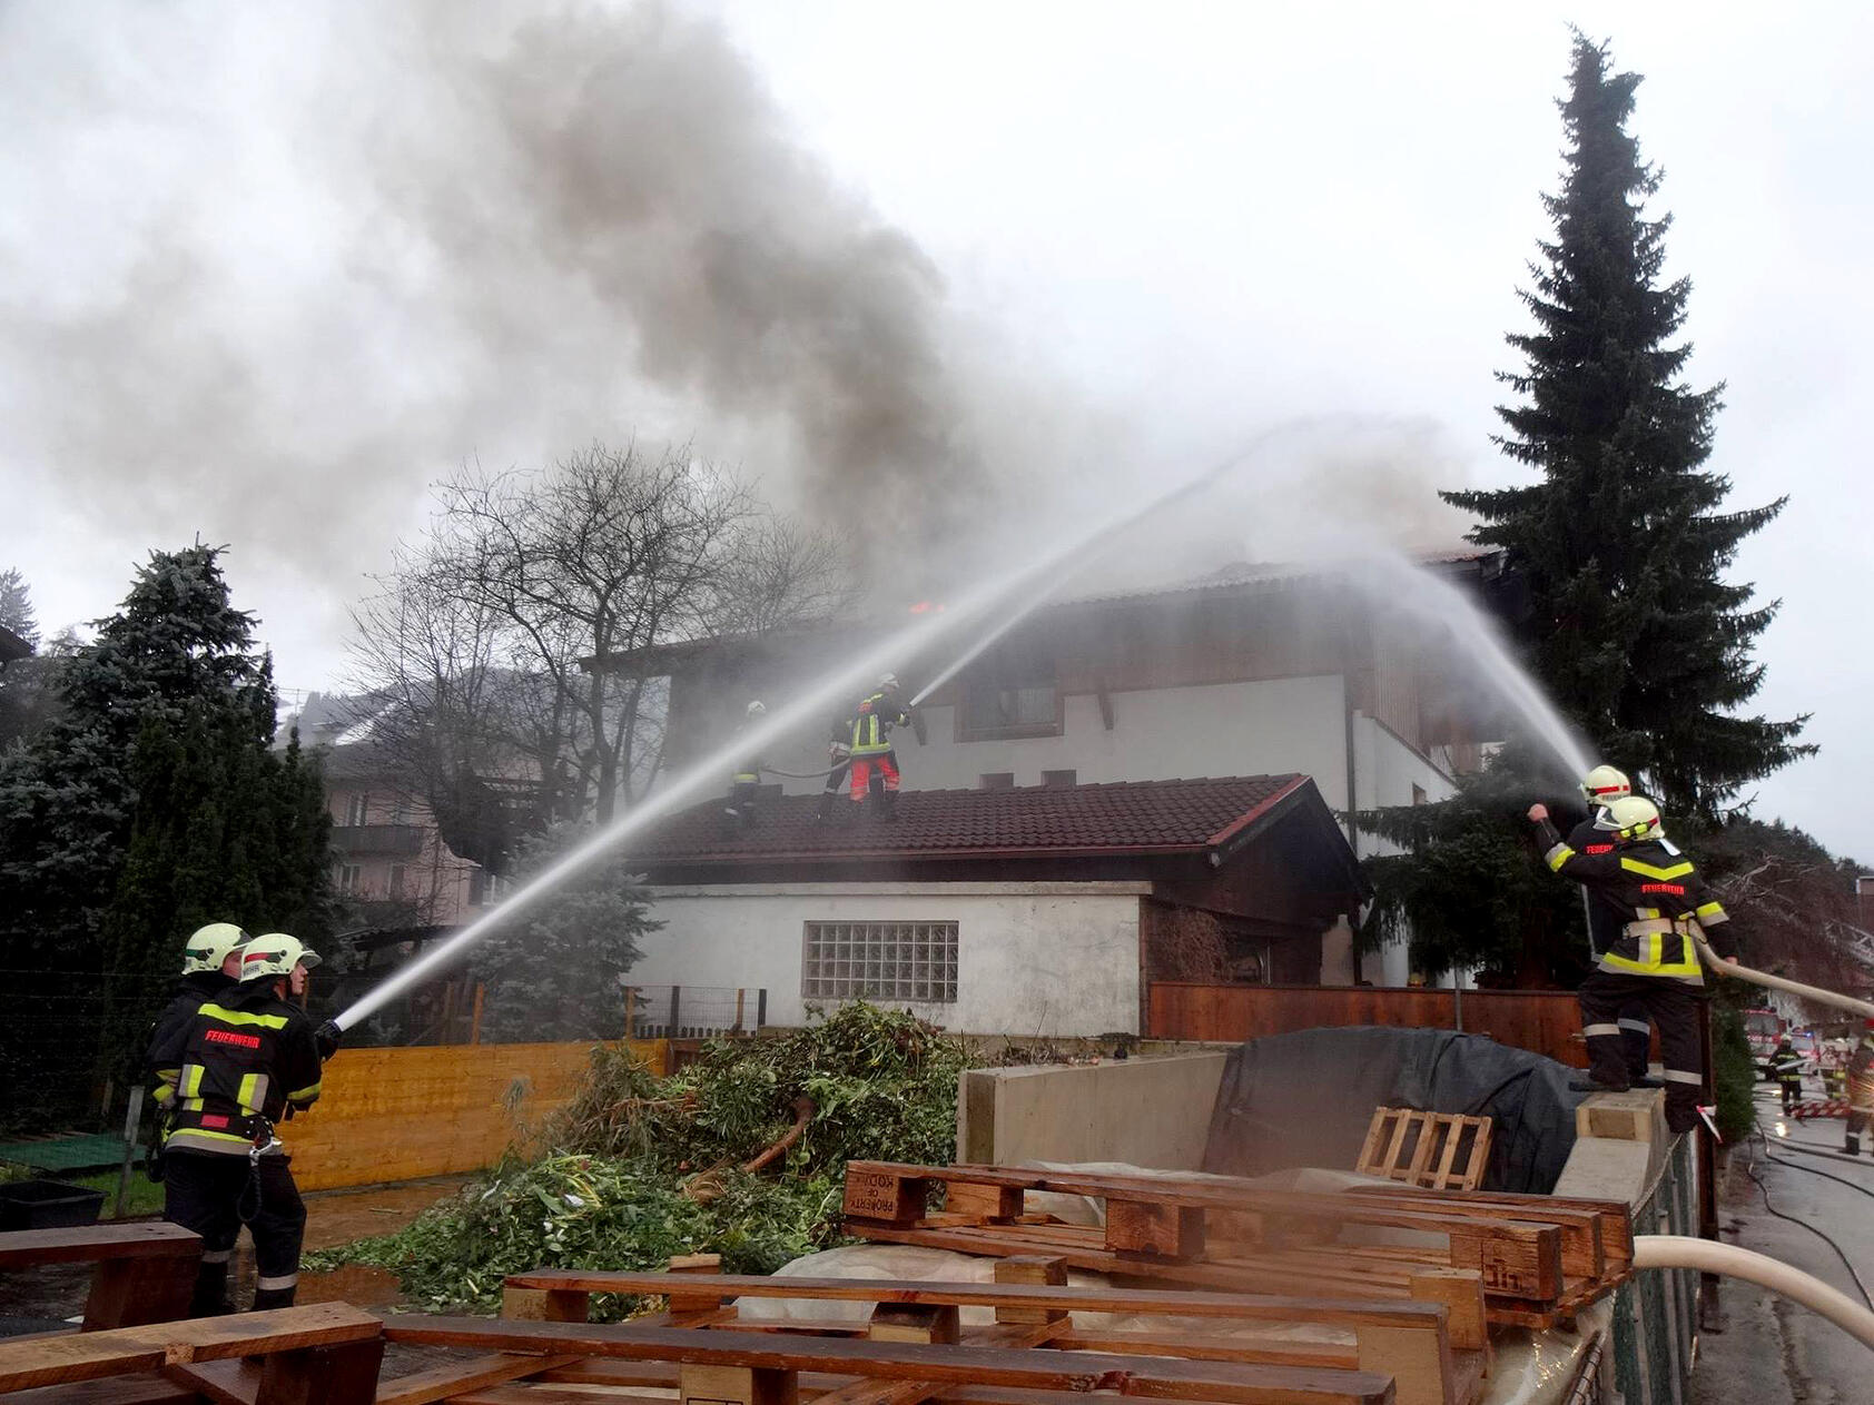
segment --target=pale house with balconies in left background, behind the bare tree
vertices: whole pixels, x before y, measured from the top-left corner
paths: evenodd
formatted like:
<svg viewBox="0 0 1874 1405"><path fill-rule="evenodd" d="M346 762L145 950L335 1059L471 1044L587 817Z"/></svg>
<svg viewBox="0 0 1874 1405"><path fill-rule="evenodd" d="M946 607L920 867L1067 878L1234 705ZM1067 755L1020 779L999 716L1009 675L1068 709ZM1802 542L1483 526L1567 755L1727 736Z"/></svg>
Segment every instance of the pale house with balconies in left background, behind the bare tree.
<svg viewBox="0 0 1874 1405"><path fill-rule="evenodd" d="M332 892L364 927L455 927L495 905L489 875L442 843L435 815L371 740L367 708L311 693L289 725L300 729L302 746L320 751Z"/></svg>

